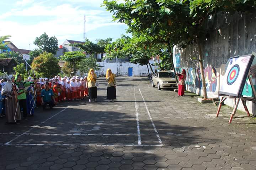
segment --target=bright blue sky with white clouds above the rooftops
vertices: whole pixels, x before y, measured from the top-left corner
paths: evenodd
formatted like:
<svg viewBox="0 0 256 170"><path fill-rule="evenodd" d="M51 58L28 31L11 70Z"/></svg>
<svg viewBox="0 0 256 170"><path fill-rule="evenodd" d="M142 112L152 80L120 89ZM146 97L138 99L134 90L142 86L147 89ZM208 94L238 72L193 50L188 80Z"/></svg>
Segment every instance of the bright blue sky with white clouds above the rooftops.
<svg viewBox="0 0 256 170"><path fill-rule="evenodd" d="M125 24L112 21L112 14L100 7L103 0L1 0L0 36L20 49L33 50L34 39L46 32L65 39L83 41L84 15L87 38L94 41L126 34ZM120 2L122 2L120 0Z"/></svg>

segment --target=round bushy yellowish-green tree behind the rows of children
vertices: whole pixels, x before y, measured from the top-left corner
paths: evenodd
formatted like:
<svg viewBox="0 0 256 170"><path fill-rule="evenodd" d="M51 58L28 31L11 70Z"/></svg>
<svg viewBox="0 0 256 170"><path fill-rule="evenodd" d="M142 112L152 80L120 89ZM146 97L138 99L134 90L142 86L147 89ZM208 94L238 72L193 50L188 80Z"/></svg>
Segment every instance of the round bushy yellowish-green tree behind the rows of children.
<svg viewBox="0 0 256 170"><path fill-rule="evenodd" d="M60 72L59 61L52 53L43 52L34 58L31 67L41 77L54 77Z"/></svg>

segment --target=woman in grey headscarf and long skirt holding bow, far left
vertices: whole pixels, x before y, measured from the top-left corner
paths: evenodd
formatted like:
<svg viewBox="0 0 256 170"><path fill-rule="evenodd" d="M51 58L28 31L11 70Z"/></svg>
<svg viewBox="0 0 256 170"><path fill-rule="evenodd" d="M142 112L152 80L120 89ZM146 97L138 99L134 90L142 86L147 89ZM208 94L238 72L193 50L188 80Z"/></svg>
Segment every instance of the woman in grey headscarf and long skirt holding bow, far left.
<svg viewBox="0 0 256 170"><path fill-rule="evenodd" d="M17 90L13 83L14 77L9 75L1 93L2 96L5 96L5 117L7 123L16 123L17 120L21 120Z"/></svg>

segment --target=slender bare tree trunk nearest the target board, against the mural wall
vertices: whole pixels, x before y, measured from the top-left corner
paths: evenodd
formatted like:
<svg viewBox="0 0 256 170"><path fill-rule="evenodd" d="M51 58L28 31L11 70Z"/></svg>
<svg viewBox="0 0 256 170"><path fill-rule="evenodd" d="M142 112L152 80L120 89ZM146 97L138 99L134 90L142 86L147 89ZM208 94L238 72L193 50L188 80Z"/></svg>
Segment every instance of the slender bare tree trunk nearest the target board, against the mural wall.
<svg viewBox="0 0 256 170"><path fill-rule="evenodd" d="M199 63L199 67L200 67L201 79L202 79L202 85L203 85L203 97L204 97L204 99L208 99L207 91L206 91L206 80L204 77L203 55L202 55L202 49L201 49L201 42L197 37L196 37L196 42L197 42L197 51L198 51L198 56L199 56L198 63Z"/></svg>

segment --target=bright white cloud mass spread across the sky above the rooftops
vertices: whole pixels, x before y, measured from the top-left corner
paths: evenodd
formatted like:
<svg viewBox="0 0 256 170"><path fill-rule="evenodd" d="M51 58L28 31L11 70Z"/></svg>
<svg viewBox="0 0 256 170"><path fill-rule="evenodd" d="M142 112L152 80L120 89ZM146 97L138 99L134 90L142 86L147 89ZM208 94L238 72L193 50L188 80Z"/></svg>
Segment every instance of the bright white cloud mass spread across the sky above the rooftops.
<svg viewBox="0 0 256 170"><path fill-rule="evenodd" d="M49 36L56 36L59 44L65 39L80 36L83 39L84 31L84 15L86 14L86 31L106 26L117 26L120 23L112 22L111 14L102 10L85 10L80 7L73 7L70 4L62 4L59 6L43 6L34 4L23 10L12 10L0 17L0 35L11 35L11 41L19 48L30 50L36 46L33 41L37 36L46 32ZM9 17L22 16L23 21L8 21ZM30 24L30 17L40 16L51 19L44 19L36 23ZM4 19L5 18L5 19ZM78 39L76 39L78 40Z"/></svg>

